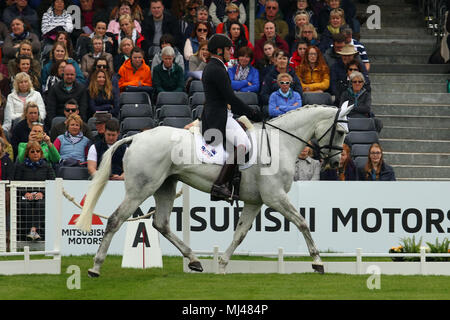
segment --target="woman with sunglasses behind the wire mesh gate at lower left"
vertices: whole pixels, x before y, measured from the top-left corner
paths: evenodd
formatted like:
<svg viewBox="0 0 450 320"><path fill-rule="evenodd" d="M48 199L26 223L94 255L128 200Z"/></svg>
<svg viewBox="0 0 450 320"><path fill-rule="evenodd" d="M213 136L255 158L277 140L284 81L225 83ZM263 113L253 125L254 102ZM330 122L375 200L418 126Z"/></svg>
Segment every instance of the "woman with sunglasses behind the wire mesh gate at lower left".
<svg viewBox="0 0 450 320"><path fill-rule="evenodd" d="M44 157L41 145L37 141L25 144L24 159L16 163L14 180L45 181L54 180L55 172ZM18 212L18 234L23 240L44 240L45 234L45 188L38 191L25 190ZM27 234L28 233L28 234ZM25 234L26 237L25 237Z"/></svg>

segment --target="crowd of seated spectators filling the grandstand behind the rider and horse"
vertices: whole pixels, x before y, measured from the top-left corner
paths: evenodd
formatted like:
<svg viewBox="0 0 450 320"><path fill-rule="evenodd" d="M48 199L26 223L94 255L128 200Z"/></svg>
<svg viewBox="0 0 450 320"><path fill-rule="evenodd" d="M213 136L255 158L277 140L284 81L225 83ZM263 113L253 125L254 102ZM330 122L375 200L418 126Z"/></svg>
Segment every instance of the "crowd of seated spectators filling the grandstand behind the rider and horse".
<svg viewBox="0 0 450 320"><path fill-rule="evenodd" d="M354 101L355 114L373 117L370 52L353 1L259 0L254 43L249 21L248 0L4 1L0 131L10 158L54 170L87 163L95 172L118 132L120 94L145 91L156 101L187 91L201 79L214 33L232 40L233 89L257 93L267 117L314 93L329 93L336 106ZM92 117L96 135L86 125ZM34 161L32 151L42 157ZM123 179L120 169L114 179Z"/></svg>

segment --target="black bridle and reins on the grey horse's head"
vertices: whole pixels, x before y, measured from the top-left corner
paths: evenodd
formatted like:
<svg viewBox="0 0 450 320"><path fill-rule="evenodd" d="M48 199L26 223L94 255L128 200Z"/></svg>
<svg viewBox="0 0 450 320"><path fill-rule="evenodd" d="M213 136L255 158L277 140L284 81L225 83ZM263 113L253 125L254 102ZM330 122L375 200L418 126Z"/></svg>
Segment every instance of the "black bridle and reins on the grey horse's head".
<svg viewBox="0 0 450 320"><path fill-rule="evenodd" d="M334 116L333 124L322 134L322 136L320 136L317 139L317 144L311 144L308 141L305 141L302 138L300 138L300 137L298 137L298 136L296 136L296 135L294 135L294 134L292 134L292 133L290 133L290 132L288 132L288 131L286 131L284 129L281 129L280 127L274 126L273 124L270 124L270 123L266 122L265 120L263 120L262 131L266 131L266 127L265 126L268 125L268 126L270 126L272 128L280 130L284 134L287 134L287 135L289 135L289 136L291 136L291 137L293 137L293 138L303 142L304 144L306 144L308 147L310 147L312 150L314 150L319 155L319 159L323 160L322 164L323 164L323 166L325 166L326 164L328 164L328 162L330 161L331 158L333 158L334 156L340 154L342 152L342 150L343 150L342 146L333 145L334 136L336 135L337 124L338 123L348 123L347 120L340 120L339 119L340 111L341 111L341 108L338 108L338 110L336 112L336 115ZM320 140L322 140L327 135L327 133L330 132L330 131L331 131L330 141L327 144L325 144L323 146L320 146L319 145ZM269 156L272 157L271 150L270 150L270 144L269 144L269 136L267 134L267 131L266 131L266 138L267 138L267 145L268 145L268 148L269 148ZM328 152L325 153L323 151L323 149L327 149ZM337 152L331 154L332 151L337 151Z"/></svg>

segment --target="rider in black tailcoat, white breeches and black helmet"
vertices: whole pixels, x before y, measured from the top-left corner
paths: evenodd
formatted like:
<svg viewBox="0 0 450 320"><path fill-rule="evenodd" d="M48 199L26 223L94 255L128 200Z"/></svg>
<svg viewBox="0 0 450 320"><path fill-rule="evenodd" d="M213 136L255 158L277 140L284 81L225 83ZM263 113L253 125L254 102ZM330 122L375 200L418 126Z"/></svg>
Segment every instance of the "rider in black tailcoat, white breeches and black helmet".
<svg viewBox="0 0 450 320"><path fill-rule="evenodd" d="M214 182L211 197L232 200L228 182L233 178L237 166L237 154L244 155L249 151L250 141L247 134L233 118L235 115L246 115L253 121L261 121L258 109L253 109L242 102L231 87L231 81L225 63L230 60L232 42L224 34L214 34L208 41L211 58L206 65L202 82L205 91L205 104L202 113L202 134L207 143L227 142L236 147L233 157L227 159L225 165ZM222 139L217 139L221 137ZM231 151L231 150L229 150Z"/></svg>

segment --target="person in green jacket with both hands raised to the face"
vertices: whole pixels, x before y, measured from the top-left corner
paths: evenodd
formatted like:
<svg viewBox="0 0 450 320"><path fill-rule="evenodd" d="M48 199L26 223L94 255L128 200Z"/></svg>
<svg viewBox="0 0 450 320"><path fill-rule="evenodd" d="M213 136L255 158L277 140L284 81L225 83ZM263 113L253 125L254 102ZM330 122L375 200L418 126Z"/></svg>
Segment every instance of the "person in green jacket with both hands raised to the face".
<svg viewBox="0 0 450 320"><path fill-rule="evenodd" d="M27 156L27 145L30 142L39 144L43 153L43 158L50 164L59 163L61 159L58 150L55 148L50 140L50 137L44 132L44 125L39 122L34 122L31 126L30 135L27 142L21 142L18 146L17 162L22 163Z"/></svg>

